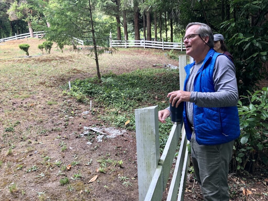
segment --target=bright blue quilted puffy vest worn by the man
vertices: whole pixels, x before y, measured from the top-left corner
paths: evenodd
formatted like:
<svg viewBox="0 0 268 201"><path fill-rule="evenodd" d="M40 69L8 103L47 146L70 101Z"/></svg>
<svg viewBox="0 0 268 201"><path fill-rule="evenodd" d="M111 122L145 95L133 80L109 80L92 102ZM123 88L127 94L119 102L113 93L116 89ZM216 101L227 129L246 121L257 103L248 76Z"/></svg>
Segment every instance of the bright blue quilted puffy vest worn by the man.
<svg viewBox="0 0 268 201"><path fill-rule="evenodd" d="M220 54L215 52L215 50L209 50L203 65L195 77L193 91L215 92L213 69L218 55ZM195 62L184 67L186 72L184 91L186 91L190 69L194 64ZM184 102L183 117L187 139L191 140L192 129L187 118L186 102ZM196 142L200 145L223 144L236 139L240 135L237 106L198 107L193 103L193 124Z"/></svg>

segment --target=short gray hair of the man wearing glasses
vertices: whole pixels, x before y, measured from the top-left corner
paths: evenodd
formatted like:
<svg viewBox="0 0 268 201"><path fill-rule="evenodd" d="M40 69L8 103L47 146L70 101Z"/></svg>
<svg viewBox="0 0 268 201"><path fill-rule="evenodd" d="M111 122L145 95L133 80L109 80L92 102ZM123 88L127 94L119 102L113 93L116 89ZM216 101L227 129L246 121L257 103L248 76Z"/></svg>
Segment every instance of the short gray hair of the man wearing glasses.
<svg viewBox="0 0 268 201"><path fill-rule="evenodd" d="M213 48L214 47L214 36L213 36L213 32L211 30L211 28L207 25L207 24L203 24L203 23L199 23L199 22L192 22L189 23L187 25L187 27L185 28L185 31L191 27L192 25L200 25L197 29L196 29L196 34L199 34L201 37L206 37L209 36L209 41L207 42L207 44Z"/></svg>

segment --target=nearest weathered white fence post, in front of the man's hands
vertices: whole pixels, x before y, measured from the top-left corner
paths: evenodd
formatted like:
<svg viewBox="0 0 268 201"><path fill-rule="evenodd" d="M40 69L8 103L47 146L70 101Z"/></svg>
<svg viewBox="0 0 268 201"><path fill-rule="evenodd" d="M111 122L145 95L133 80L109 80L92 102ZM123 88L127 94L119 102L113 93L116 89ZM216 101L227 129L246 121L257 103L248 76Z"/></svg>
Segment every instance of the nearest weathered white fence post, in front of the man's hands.
<svg viewBox="0 0 268 201"><path fill-rule="evenodd" d="M139 201L144 201L160 159L158 106L135 110Z"/></svg>

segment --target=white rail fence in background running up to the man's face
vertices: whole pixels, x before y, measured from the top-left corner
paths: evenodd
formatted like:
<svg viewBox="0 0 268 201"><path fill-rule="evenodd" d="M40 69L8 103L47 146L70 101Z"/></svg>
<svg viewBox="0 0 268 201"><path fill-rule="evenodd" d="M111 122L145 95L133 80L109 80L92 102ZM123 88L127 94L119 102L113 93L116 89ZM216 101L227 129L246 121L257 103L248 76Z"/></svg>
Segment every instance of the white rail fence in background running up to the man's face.
<svg viewBox="0 0 268 201"><path fill-rule="evenodd" d="M164 39L162 38L162 41L150 41L150 40L112 40L111 33L110 33L110 47L143 47L144 49L146 47L150 48L158 48L158 49L177 49L184 51L185 46L181 39L180 43L173 43L173 42L164 42Z"/></svg>

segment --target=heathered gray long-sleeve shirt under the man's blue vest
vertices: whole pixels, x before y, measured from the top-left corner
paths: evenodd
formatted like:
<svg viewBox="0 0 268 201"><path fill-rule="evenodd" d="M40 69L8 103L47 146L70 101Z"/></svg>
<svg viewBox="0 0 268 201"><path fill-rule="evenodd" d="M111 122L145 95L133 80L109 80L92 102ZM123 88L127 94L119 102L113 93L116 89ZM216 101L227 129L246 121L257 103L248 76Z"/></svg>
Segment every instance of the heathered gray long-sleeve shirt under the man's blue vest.
<svg viewBox="0 0 268 201"><path fill-rule="evenodd" d="M193 91L193 82L203 61L191 68L190 77L186 85L186 91L191 91L190 102L187 102L186 106L188 119L192 125L193 103L199 107L228 107L236 106L238 101L235 66L225 55L219 55L214 65L213 81L216 92ZM169 107L166 109L169 110Z"/></svg>

